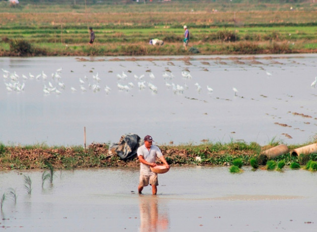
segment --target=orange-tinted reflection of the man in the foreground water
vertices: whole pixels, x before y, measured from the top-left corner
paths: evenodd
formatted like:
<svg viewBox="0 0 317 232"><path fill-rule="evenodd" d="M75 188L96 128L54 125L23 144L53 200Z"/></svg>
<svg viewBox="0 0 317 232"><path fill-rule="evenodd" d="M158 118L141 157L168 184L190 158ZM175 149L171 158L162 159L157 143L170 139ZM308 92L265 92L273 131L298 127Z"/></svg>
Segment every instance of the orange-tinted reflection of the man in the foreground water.
<svg viewBox="0 0 317 232"><path fill-rule="evenodd" d="M168 213L157 207L160 199L156 195L140 195L140 232L166 231L169 226Z"/></svg>

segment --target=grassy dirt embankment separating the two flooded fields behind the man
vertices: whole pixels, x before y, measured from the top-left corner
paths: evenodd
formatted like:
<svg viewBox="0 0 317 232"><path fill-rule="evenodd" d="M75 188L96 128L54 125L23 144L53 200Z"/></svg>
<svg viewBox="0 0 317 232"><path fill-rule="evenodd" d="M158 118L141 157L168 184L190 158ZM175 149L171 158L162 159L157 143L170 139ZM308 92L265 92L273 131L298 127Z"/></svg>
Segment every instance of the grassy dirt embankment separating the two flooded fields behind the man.
<svg viewBox="0 0 317 232"><path fill-rule="evenodd" d="M256 152L252 149L229 148L213 151L208 146L160 146L169 164L178 165L224 165L234 157L245 157L247 164ZM196 157L201 157L197 161ZM117 155L108 154L108 145L91 144L83 147L2 147L0 153L0 168L5 169L35 169L47 168L47 163L54 168L90 168L107 166L138 166L137 157L123 161Z"/></svg>

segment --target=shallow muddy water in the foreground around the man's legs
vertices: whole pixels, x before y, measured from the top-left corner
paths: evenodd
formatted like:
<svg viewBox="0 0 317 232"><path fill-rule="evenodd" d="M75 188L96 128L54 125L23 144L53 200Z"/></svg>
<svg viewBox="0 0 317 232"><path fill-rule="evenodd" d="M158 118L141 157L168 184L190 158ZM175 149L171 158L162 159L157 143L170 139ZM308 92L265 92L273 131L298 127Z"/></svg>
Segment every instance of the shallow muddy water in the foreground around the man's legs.
<svg viewBox="0 0 317 232"><path fill-rule="evenodd" d="M316 231L316 173L229 173L228 167L172 167L158 195L136 193L138 168L0 172L0 227L8 231ZM31 195L24 175L32 180Z"/></svg>

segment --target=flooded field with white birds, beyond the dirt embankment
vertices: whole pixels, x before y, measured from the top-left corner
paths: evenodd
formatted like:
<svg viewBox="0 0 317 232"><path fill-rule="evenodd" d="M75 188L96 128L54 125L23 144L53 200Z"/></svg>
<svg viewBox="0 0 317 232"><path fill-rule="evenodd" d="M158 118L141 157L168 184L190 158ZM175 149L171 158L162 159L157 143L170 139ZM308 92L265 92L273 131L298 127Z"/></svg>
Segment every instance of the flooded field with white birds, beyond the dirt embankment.
<svg viewBox="0 0 317 232"><path fill-rule="evenodd" d="M0 58L0 141L308 142L315 54Z"/></svg>

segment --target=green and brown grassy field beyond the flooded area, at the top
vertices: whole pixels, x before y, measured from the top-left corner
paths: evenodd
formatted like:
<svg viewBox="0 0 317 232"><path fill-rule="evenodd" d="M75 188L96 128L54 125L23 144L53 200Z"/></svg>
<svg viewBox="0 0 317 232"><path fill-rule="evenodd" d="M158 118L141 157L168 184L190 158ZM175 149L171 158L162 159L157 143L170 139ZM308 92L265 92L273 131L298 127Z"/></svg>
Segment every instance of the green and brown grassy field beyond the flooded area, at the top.
<svg viewBox="0 0 317 232"><path fill-rule="evenodd" d="M76 3L76 5L74 4ZM290 9L292 8L292 10ZM317 5L239 1L0 2L1 56L184 55L316 52ZM94 46L88 45L92 26ZM164 40L161 47L149 39ZM20 43L23 41L24 43Z"/></svg>

